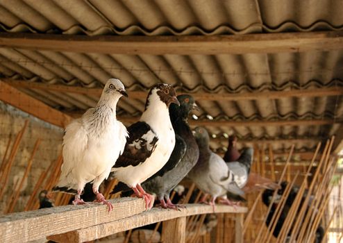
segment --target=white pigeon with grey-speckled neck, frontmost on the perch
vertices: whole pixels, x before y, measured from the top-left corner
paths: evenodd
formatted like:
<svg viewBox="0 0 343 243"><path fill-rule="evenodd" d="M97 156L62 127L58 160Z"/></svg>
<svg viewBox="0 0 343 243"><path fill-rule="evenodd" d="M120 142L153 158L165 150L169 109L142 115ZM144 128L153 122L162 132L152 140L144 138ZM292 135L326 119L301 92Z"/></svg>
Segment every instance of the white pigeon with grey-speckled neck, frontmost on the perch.
<svg viewBox="0 0 343 243"><path fill-rule="evenodd" d="M93 183L97 202L112 204L99 192L99 185L124 151L128 133L116 119L117 102L127 97L124 85L117 78L110 78L95 108L88 109L79 119L65 128L63 137L63 164L60 179L53 191L76 194L74 205L84 204L81 194L86 183Z"/></svg>

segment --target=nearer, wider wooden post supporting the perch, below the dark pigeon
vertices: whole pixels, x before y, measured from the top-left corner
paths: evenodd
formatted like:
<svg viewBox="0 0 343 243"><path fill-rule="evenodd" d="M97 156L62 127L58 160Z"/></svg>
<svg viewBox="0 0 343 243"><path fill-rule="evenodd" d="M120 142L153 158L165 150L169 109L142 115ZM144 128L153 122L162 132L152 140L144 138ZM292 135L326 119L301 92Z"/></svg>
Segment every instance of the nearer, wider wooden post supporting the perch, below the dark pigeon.
<svg viewBox="0 0 343 243"><path fill-rule="evenodd" d="M186 217L180 217L163 221L162 242L185 243L186 241Z"/></svg>

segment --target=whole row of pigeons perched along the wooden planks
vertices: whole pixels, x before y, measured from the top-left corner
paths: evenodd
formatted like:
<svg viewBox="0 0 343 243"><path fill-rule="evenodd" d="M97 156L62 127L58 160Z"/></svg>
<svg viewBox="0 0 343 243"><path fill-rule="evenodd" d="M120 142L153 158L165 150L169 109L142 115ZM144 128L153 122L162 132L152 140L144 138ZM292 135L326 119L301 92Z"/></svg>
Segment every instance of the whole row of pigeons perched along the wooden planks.
<svg viewBox="0 0 343 243"><path fill-rule="evenodd" d="M128 97L123 83L110 78L97 106L65 128L61 174L53 192L74 194L74 205L94 199L110 211L113 206L99 192L99 185L116 178L119 183L112 194L134 193L144 199L147 210L156 197L160 207L178 210L182 206L169 196L187 177L204 192L201 202L214 209L217 198L231 206L245 201L253 149L246 147L240 153L237 138L230 136L224 158L212 152L206 129L192 131L188 124L197 109L192 96L176 96L174 87L165 83L153 85L140 120L128 128L116 118L122 96ZM53 206L47 192L42 192L40 201L42 208Z"/></svg>

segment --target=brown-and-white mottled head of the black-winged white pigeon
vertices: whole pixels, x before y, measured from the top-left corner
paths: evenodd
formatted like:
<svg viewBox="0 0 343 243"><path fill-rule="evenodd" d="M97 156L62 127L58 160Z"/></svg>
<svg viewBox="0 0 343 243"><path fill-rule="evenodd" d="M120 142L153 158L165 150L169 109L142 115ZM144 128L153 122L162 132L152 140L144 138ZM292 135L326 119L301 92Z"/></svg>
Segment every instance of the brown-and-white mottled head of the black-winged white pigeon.
<svg viewBox="0 0 343 243"><path fill-rule="evenodd" d="M178 102L178 99L176 98L174 87L166 83L158 83L151 87L147 97L147 102L145 103L145 110L147 110L147 107L151 102L156 100L165 103L167 108L169 108L171 103L175 103L180 106L180 102Z"/></svg>

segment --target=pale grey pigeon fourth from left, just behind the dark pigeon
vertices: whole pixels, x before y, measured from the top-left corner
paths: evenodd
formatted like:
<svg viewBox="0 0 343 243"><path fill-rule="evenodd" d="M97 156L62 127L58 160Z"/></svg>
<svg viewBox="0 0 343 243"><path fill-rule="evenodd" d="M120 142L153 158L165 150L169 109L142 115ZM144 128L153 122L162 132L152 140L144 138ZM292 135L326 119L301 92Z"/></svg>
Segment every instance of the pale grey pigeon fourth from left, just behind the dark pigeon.
<svg viewBox="0 0 343 243"><path fill-rule="evenodd" d="M195 128L194 137L199 146L199 160L188 174L188 177L202 190L205 194L210 194L212 199L210 205L215 207L217 196L225 196L226 192L243 195L235 177L225 161L210 150L210 137L205 128ZM203 197L202 202L205 197Z"/></svg>

